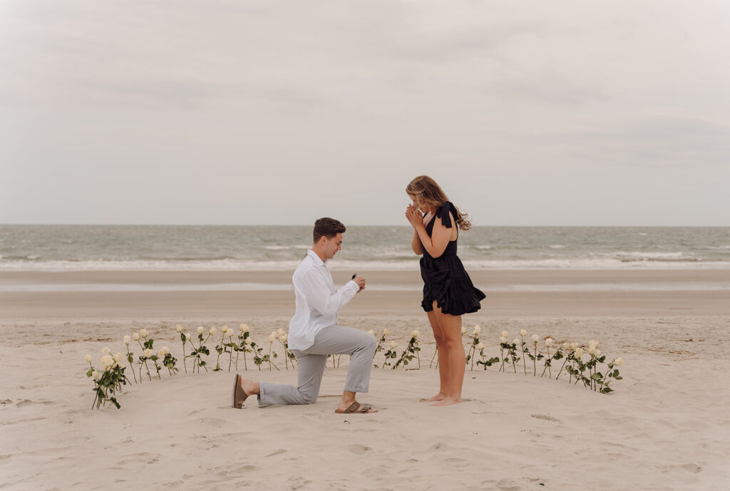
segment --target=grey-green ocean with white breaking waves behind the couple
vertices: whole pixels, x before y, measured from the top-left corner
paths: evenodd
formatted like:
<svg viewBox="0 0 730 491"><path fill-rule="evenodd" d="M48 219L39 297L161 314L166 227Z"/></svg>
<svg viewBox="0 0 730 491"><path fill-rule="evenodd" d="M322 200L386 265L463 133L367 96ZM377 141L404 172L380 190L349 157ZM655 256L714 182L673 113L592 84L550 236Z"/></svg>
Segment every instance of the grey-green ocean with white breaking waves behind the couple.
<svg viewBox="0 0 730 491"><path fill-rule="evenodd" d="M293 270L311 226L0 225L0 271ZM418 268L410 226L350 226L328 263L348 271ZM730 227L475 227L467 269L725 269Z"/></svg>

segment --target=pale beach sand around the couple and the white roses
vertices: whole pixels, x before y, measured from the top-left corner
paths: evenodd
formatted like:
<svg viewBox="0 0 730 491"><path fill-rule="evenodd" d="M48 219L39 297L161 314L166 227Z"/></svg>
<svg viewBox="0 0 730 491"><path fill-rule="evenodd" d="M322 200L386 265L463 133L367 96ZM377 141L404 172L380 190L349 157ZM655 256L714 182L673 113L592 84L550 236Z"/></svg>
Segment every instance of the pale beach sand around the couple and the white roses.
<svg viewBox="0 0 730 491"><path fill-rule="evenodd" d="M180 358L178 323L220 333L245 322L268 347L266 336L293 314L288 290L175 285L285 285L285 271L0 273L0 285L164 285L0 293L0 490L727 489L730 291L712 285L726 284L730 271L475 271L488 299L464 324L482 326L489 355L502 330L510 339L522 328L558 342L596 339L609 360L623 357L623 380L602 395L564 375L555 380L555 369L553 379L540 378L528 364L525 376L521 361L516 374L475 366L464 403L439 408L419 402L437 392L438 375L429 368L434 344L418 273L361 274L372 290L342 309L340 323L388 328L399 349L418 329L422 348L419 370L415 360L408 370L373 370L359 399L380 412L368 415L333 412L347 357L326 370L310 406L260 409L249 400L229 408L226 358L223 371L185 375L180 366L177 376L132 382L121 409L91 410L84 355L98 366L101 349L124 351L122 336L134 330L147 328L155 348ZM342 284L349 273L334 277ZM208 360L215 366L215 352ZM239 369L255 379L296 381L281 358L280 371L248 363Z"/></svg>

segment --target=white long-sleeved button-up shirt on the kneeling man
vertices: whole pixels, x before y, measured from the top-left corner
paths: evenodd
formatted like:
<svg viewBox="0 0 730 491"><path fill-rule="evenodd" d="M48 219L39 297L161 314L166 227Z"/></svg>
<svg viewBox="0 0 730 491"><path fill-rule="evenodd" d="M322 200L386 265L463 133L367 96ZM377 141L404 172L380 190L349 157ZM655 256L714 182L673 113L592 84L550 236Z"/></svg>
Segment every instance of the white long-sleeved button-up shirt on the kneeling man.
<svg viewBox="0 0 730 491"><path fill-rule="evenodd" d="M320 330L337 324L337 311L352 300L360 287L350 280L344 287L335 290L327 266L311 249L296 266L292 281L296 312L289 321L289 348L307 349L314 344Z"/></svg>

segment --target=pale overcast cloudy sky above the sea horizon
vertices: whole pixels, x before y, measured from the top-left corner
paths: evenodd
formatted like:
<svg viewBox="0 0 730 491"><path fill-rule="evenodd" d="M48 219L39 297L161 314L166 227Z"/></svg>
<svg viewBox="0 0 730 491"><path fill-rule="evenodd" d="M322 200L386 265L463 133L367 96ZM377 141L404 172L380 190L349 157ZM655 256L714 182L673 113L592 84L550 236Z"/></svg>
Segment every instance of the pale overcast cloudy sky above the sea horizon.
<svg viewBox="0 0 730 491"><path fill-rule="evenodd" d="M730 225L730 2L0 0L0 223Z"/></svg>

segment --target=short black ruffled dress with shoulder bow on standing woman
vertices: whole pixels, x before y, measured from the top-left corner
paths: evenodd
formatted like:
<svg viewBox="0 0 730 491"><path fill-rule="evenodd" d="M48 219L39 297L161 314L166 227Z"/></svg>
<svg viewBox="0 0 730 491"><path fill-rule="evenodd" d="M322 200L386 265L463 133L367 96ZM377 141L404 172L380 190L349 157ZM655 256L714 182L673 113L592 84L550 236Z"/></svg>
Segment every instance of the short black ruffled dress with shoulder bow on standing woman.
<svg viewBox="0 0 730 491"><path fill-rule="evenodd" d="M426 225L429 237L434 231L437 217L446 228L451 228L449 212L456 217L456 207L450 201L437 209L434 217ZM426 251L426 247L423 247L420 276L423 278L423 301L420 305L426 312L434 309L435 300L444 314L471 314L480 309L479 302L487 296L475 288L472 279L466 274L464 264L456 255L456 240L449 241L446 250L438 258L432 257Z"/></svg>

